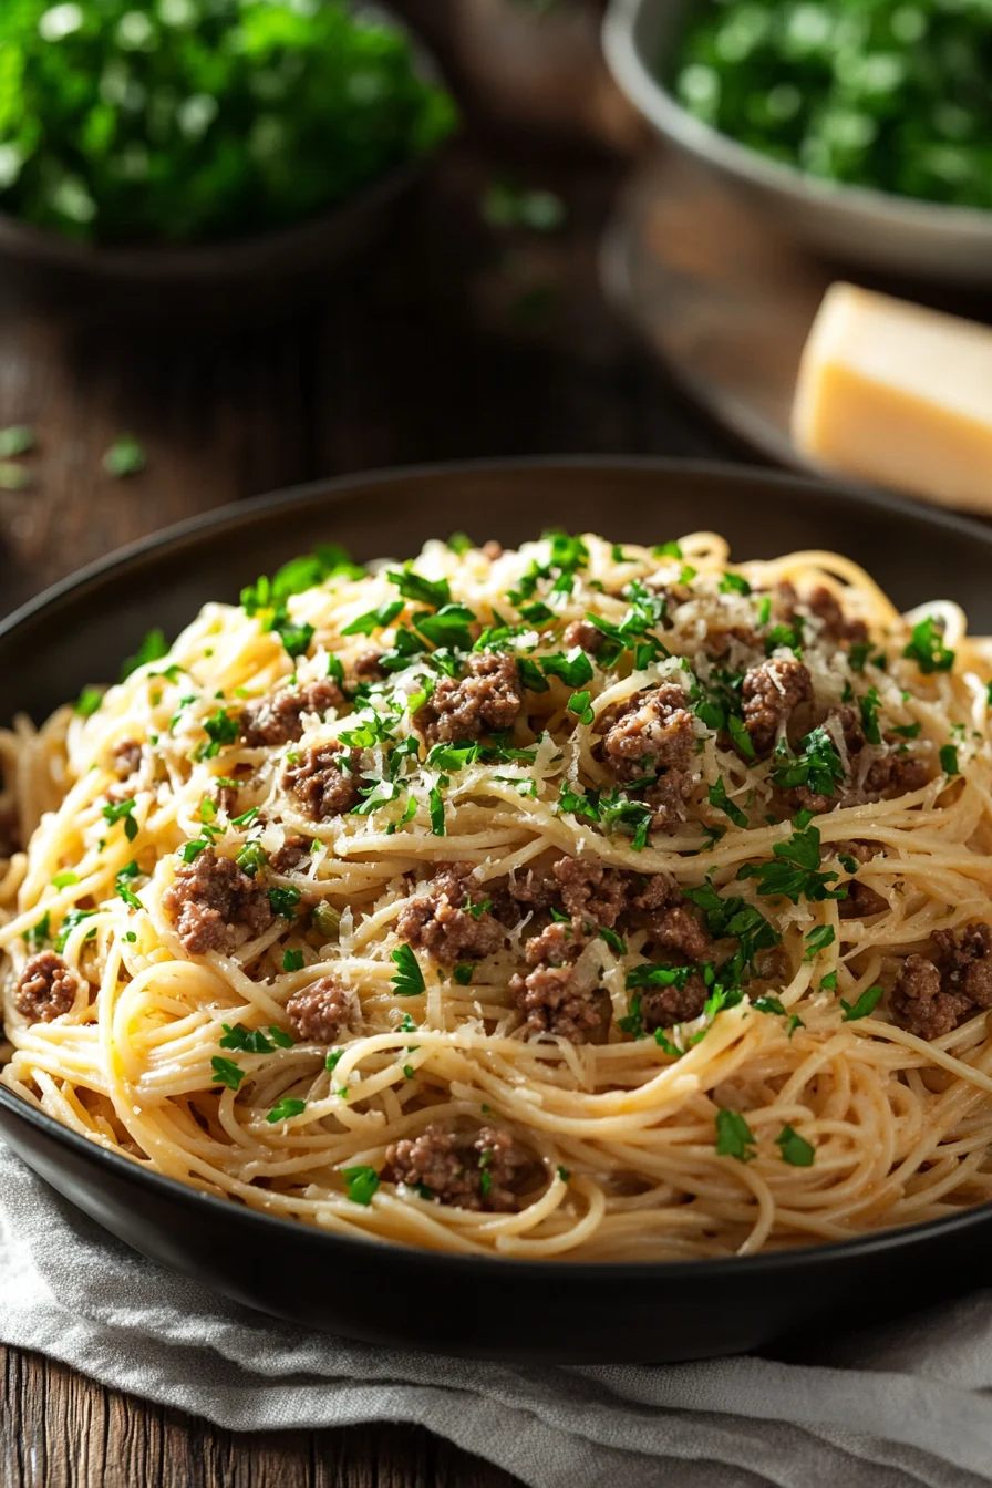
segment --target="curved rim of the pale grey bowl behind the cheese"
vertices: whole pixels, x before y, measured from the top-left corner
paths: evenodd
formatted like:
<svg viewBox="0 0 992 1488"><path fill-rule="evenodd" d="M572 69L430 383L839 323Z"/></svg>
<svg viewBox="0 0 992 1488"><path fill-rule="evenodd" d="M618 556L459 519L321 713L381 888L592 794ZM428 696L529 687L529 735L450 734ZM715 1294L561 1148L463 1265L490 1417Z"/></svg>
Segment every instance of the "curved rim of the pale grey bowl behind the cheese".
<svg viewBox="0 0 992 1488"><path fill-rule="evenodd" d="M683 149L756 186L851 216L883 217L891 228L937 235L992 240L992 210L928 202L870 186L852 186L811 176L741 144L689 113L651 70L640 45L641 18L671 0L610 0L602 18L602 49L614 82L644 118Z"/></svg>

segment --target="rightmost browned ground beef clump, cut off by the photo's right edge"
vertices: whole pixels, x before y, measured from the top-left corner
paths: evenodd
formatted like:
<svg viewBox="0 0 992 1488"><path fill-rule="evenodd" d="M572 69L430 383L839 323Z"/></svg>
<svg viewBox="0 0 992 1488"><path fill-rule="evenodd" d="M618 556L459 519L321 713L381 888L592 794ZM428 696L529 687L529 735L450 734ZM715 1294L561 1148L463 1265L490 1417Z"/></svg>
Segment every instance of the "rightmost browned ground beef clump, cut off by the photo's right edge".
<svg viewBox="0 0 992 1488"><path fill-rule="evenodd" d="M992 927L934 930L935 958L907 955L891 997L894 1021L918 1039L941 1039L992 1007Z"/></svg>

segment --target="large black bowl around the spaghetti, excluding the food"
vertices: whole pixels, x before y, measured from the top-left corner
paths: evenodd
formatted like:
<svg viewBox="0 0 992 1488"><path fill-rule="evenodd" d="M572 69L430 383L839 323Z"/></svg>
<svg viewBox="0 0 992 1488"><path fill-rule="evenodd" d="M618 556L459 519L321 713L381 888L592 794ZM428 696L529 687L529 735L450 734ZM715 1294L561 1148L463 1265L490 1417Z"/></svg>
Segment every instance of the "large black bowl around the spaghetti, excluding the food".
<svg viewBox="0 0 992 1488"><path fill-rule="evenodd" d="M0 717L36 719L116 676L152 625L317 542L415 554L467 530L543 527L660 542L714 528L738 558L839 548L901 606L959 600L992 629L992 533L962 518L791 475L645 460L543 460L364 475L228 507L58 585L0 626ZM30 658L30 665L25 664ZM43 662L40 662L43 659ZM3 1138L129 1245L297 1323L442 1353L565 1362L677 1360L787 1347L986 1280L992 1205L869 1240L744 1260L577 1265L443 1256L342 1240L143 1173L0 1089Z"/></svg>

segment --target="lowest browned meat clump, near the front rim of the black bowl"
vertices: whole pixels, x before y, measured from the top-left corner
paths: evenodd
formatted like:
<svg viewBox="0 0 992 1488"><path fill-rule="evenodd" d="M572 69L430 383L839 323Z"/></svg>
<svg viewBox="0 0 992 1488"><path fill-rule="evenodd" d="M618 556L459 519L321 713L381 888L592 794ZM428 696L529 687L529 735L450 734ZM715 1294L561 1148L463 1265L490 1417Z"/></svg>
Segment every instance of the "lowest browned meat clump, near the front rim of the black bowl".
<svg viewBox="0 0 992 1488"><path fill-rule="evenodd" d="M518 1205L515 1184L525 1162L509 1131L483 1126L473 1138L433 1122L419 1137L385 1149L382 1177L430 1189L442 1204L507 1213Z"/></svg>

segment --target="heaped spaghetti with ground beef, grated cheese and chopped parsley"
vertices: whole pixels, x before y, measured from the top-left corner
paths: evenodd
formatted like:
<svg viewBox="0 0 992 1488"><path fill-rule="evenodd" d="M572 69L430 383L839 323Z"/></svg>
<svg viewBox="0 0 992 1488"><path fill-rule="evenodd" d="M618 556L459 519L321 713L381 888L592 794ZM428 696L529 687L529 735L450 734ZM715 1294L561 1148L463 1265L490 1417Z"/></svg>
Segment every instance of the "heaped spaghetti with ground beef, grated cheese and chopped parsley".
<svg viewBox="0 0 992 1488"><path fill-rule="evenodd" d="M0 735L1 1079L437 1250L747 1254L983 1202L989 677L955 604L828 552L321 549Z"/></svg>

